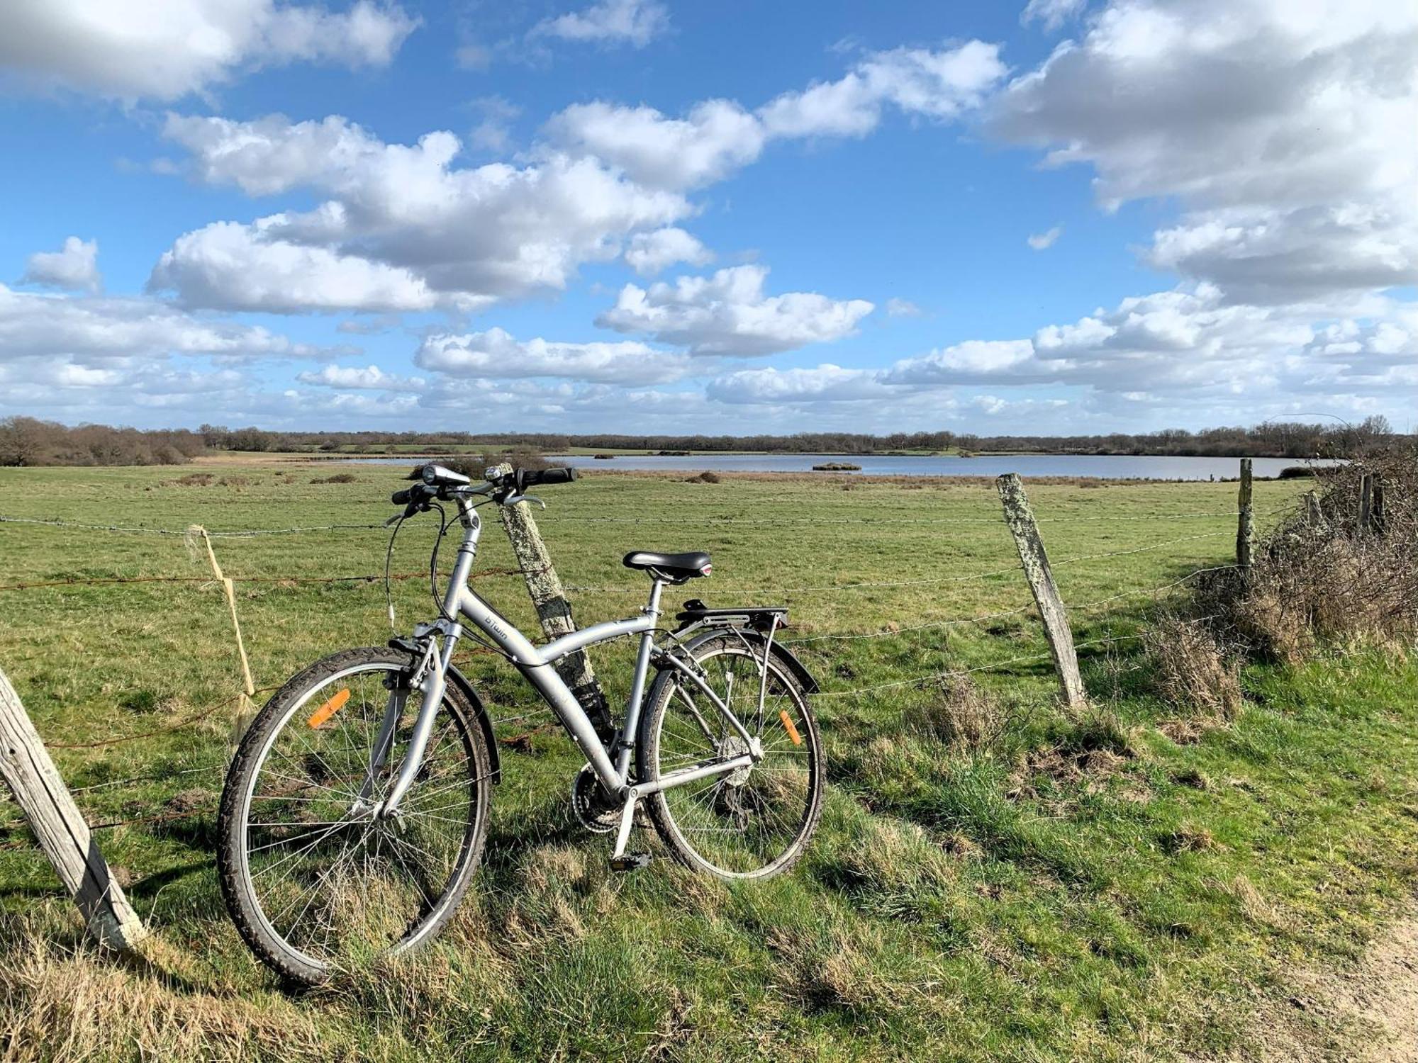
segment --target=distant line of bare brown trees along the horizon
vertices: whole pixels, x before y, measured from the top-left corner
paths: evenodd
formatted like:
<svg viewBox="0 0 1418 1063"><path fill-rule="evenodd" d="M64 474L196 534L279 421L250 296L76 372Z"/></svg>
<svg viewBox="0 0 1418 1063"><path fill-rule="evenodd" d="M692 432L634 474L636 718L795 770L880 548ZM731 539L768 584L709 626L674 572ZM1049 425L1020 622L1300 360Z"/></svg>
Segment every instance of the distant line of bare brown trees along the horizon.
<svg viewBox="0 0 1418 1063"><path fill-rule="evenodd" d="M0 421L0 465L177 465L208 451L380 454L564 454L597 451L777 451L879 454L883 451L1011 451L1024 454L1130 454L1177 456L1343 458L1385 449L1398 437L1383 417L1357 425L1269 421L1252 428L1109 435L974 435L964 432L798 432L795 435L559 435L549 432L274 432L204 424L187 429L68 428L33 417Z"/></svg>

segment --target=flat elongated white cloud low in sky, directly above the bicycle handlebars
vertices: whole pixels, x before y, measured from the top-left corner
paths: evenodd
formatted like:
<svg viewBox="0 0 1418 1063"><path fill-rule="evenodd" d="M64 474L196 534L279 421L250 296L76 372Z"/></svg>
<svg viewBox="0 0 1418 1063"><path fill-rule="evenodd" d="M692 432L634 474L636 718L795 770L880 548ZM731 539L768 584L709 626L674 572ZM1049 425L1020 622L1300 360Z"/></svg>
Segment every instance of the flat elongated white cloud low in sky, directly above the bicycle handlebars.
<svg viewBox="0 0 1418 1063"><path fill-rule="evenodd" d="M414 361L421 369L452 377L566 377L632 386L679 380L691 369L686 354L657 350L644 343L518 340L502 329L428 336Z"/></svg>

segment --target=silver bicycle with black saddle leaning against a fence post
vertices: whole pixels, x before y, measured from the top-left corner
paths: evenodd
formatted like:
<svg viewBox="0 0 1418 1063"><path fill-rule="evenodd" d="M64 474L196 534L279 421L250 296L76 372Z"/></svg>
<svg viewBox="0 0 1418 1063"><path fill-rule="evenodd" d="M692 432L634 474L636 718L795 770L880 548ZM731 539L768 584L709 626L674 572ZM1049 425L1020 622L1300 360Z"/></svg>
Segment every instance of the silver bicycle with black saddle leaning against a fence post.
<svg viewBox="0 0 1418 1063"><path fill-rule="evenodd" d="M421 465L410 475L417 482L393 495L404 506L389 522L396 536L420 512L457 506L462 543L440 617L410 638L346 649L291 677L227 772L217 822L223 897L250 948L296 982L315 985L427 943L482 859L502 767L482 699L452 663L465 622L526 677L584 754L571 808L587 831L614 832L613 869L649 860L627 853L642 805L675 859L725 879L787 870L817 828L825 777L807 700L817 683L774 641L787 609L691 600L666 629L664 588L709 575L709 554L642 550L624 557L651 581L638 615L533 645L468 585L478 509L545 506L527 489L574 480L576 471L485 475L475 486ZM430 563L435 601L438 543L450 526L442 522ZM556 665L625 636L640 636L640 646L614 727L608 713L577 700Z"/></svg>

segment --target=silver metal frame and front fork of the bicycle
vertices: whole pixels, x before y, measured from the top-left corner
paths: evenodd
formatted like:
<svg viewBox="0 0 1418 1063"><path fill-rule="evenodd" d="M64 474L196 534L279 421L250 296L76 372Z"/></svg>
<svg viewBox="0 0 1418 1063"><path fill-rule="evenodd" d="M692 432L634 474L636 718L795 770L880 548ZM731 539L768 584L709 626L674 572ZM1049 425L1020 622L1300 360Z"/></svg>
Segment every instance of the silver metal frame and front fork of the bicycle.
<svg viewBox="0 0 1418 1063"><path fill-rule="evenodd" d="M394 781L393 788L389 791L389 797L383 802L381 811L384 814L390 814L398 808L400 801L403 801L404 794L408 791L408 787L417 777L418 770L423 767L428 737L432 733L434 717L437 716L438 706L442 703L444 690L447 687L448 666L452 660L452 653L458 639L462 635L462 625L457 621L450 622L447 618L464 618L469 621L489 639L496 642L503 652L506 652L512 663L519 672L522 672L523 676L527 677L532 686L536 687L537 693L540 693L542 699L550 706L552 712L562 721L562 726L566 727L577 747L580 747L591 767L591 771L596 772L596 777L600 780L605 792L624 801L615 846L617 855L620 855L625 848L625 839L630 835L630 825L635 801L638 798L661 789L671 789L672 787L681 787L688 782L695 782L696 780L709 778L710 775L729 774L761 760L761 743L747 731L743 723L740 723L733 712L730 712L725 700L720 699L709 687L709 685L689 668L689 665L679 660L676 656L665 655L664 660L686 676L689 682L719 710L729 726L744 741L749 753L729 760L715 761L712 764L700 764L672 771L652 782L631 784L631 751L634 748L632 736L637 731L645 697L645 677L649 673L651 653L654 652L655 628L659 622L659 598L664 591L664 583L661 580L652 580L649 587L649 601L640 611L638 617L593 624L588 628L581 628L580 631L573 631L570 635L553 639L546 645L535 646L530 639L518 631L518 628L506 617L499 614L468 585L468 577L472 573L472 563L478 554L478 539L482 534L482 520L474 509L471 499L459 497L458 512L459 523L464 527L464 536L462 543L458 546L458 556L454 561L452 573L448 577L448 591L444 595L442 611L445 619L432 625L435 631L440 631L444 635L444 643L441 652L431 653L430 659L425 662L427 666L420 668L414 675L414 683L423 690L424 700L418 710L418 719L414 721L413 736L410 737L404 761L400 765L398 778ZM617 750L615 761L611 763L610 755L605 753L596 734L596 727L591 724L590 717L587 717L586 710L581 709L581 704L576 700L576 696L563 682L562 676L557 675L553 665L567 653L577 649L593 646L608 639L623 638L625 635L640 635L640 652L635 656L635 673L631 682L630 699L625 706L625 720L621 729L623 741ZM766 662L763 668L766 670ZM394 700L396 699L391 694L391 706L394 704ZM390 729L391 726L393 721L390 721ZM372 765L372 772L377 770L377 767L379 765Z"/></svg>

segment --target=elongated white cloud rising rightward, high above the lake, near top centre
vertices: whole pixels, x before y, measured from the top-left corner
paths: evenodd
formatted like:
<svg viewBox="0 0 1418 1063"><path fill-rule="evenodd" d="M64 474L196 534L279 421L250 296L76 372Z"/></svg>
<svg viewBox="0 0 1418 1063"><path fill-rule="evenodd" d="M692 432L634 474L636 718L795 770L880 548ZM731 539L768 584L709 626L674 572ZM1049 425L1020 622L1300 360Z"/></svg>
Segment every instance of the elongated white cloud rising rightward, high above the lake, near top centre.
<svg viewBox="0 0 1418 1063"><path fill-rule="evenodd" d="M651 187L693 189L752 163L771 139L864 136L888 103L909 115L957 118L1004 74L998 45L983 41L896 48L868 55L838 81L784 92L757 112L710 99L669 118L597 101L559 112L546 133L564 150L604 159Z"/></svg>

